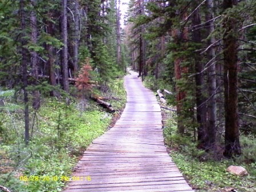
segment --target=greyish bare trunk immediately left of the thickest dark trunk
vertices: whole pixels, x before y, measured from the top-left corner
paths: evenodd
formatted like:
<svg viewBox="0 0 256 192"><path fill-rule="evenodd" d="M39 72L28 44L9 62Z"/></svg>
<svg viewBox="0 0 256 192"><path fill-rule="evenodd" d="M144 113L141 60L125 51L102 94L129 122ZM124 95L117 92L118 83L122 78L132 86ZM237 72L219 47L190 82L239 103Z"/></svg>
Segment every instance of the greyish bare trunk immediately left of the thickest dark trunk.
<svg viewBox="0 0 256 192"><path fill-rule="evenodd" d="M213 37L214 32L214 21L213 19L213 9L214 9L214 1L207 0L207 12L206 12L206 21L210 21L208 23L209 33L211 35L210 40L208 42L209 46L215 42L215 38ZM215 57L214 47L210 47L209 51L207 51L208 59L211 60ZM208 69L208 93L209 93L209 101L208 101L208 125L207 125L207 148L214 151L216 145L216 69L215 69L215 59L212 61L213 63L209 63L210 67Z"/></svg>

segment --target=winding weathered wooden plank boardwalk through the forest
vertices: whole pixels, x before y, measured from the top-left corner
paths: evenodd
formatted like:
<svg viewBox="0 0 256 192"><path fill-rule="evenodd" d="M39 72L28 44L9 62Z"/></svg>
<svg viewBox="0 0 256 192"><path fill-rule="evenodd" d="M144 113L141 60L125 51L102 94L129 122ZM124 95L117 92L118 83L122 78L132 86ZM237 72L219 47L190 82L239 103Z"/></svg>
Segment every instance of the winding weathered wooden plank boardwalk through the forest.
<svg viewBox="0 0 256 192"><path fill-rule="evenodd" d="M192 192L166 152L157 99L136 73L125 77L125 87L121 118L91 143L73 174L80 177L74 177L65 192ZM91 181L86 181L88 176Z"/></svg>

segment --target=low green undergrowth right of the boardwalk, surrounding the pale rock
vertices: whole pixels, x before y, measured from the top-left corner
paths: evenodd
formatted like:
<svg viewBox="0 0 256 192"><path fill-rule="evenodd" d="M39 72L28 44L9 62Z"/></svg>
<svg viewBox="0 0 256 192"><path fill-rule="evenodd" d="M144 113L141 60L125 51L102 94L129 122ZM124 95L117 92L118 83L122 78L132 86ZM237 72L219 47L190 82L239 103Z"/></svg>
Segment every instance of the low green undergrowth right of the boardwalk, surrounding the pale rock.
<svg viewBox="0 0 256 192"><path fill-rule="evenodd" d="M166 83L151 81L146 78L144 85L155 91L157 89L170 89L164 87ZM167 96L167 108L171 107L175 95ZM160 103L160 101L159 101ZM161 105L165 105L161 103ZM196 142L196 130L191 129L186 135L177 133L177 114L175 111L162 109L163 135L167 151L181 173L195 191L225 192L235 189L239 192L256 191L256 139L254 134L241 133L242 155L233 159L223 157L224 137L220 135L218 151L214 154L198 149ZM249 175L243 177L226 171L230 165L245 167Z"/></svg>

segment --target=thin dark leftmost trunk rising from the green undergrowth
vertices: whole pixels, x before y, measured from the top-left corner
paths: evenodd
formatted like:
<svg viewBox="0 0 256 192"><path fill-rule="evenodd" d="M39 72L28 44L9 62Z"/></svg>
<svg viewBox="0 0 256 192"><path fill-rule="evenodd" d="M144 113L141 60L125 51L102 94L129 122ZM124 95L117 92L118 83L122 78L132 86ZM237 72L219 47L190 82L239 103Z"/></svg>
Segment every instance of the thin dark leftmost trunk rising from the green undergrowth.
<svg viewBox="0 0 256 192"><path fill-rule="evenodd" d="M21 55L22 55L22 82L24 92L24 114L25 114L25 143L29 144L29 97L27 96L27 65L29 63L29 51L26 49L26 22L25 22L25 2L24 0L19 1L19 16L21 17Z"/></svg>

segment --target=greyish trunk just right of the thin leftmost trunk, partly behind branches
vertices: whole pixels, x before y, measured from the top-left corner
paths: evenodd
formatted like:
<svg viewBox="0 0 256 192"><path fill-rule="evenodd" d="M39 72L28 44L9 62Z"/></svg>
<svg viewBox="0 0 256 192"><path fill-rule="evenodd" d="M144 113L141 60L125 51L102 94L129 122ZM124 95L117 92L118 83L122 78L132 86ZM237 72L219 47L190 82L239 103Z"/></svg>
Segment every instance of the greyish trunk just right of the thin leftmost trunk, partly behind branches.
<svg viewBox="0 0 256 192"><path fill-rule="evenodd" d="M35 5L35 0L31 0L31 4ZM30 26L31 26L31 42L37 44L37 15L34 11L30 14ZM32 64L32 76L35 79L35 84L38 80L38 59L37 52L31 52L31 64ZM40 92L38 90L33 90L32 106L34 109L39 109L40 107Z"/></svg>

